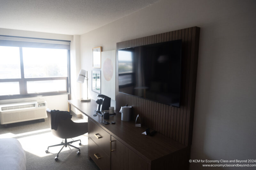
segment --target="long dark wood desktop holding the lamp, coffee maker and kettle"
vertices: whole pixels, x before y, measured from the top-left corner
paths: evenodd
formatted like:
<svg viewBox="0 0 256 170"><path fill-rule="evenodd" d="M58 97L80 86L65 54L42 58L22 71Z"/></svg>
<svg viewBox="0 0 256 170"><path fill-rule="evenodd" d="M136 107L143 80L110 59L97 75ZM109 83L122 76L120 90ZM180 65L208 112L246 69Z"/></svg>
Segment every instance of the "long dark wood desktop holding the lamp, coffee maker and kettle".
<svg viewBox="0 0 256 170"><path fill-rule="evenodd" d="M149 163L187 147L160 133L156 133L154 136L142 135L141 133L144 132L147 127L135 127L135 120L130 122L121 121L120 113L110 116L109 120L107 120L108 122L115 121L116 124L105 125L100 123L103 117L100 115L93 116L95 114L94 110L97 108L95 100L91 100L91 102L68 100L68 103L76 107L102 129L106 130L110 135Z"/></svg>

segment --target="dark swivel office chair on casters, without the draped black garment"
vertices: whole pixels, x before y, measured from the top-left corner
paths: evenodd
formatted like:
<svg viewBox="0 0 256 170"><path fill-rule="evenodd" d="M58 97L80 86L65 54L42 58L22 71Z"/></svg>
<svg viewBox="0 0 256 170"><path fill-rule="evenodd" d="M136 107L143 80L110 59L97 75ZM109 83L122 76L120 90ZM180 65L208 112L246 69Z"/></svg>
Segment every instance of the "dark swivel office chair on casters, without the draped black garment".
<svg viewBox="0 0 256 170"><path fill-rule="evenodd" d="M48 120L49 120L49 123L50 123L50 127L52 129L51 110L47 109L46 112L47 112ZM55 161L59 160L59 153L64 148L64 146L65 147L71 146L71 147L74 147L74 148L78 149L78 151L76 153L77 153L77 155L80 155L80 153L81 153L80 149L76 146L71 145L71 144L73 142L80 141L79 145L81 145L81 140L75 140L75 141L67 142L67 139L72 138L72 137L78 137L78 136L83 135L87 132L88 132L88 122L76 123L76 122L73 122L71 119L66 119L66 120L59 119L57 130L52 129L52 133L53 133L53 135L55 135L59 138L65 139L65 143L61 142L60 144L55 144L55 145L52 145L52 146L48 146L48 148L45 152L48 153L48 150L49 150L50 147L63 145L62 148L60 149L60 151L58 152L57 156L55 157Z"/></svg>

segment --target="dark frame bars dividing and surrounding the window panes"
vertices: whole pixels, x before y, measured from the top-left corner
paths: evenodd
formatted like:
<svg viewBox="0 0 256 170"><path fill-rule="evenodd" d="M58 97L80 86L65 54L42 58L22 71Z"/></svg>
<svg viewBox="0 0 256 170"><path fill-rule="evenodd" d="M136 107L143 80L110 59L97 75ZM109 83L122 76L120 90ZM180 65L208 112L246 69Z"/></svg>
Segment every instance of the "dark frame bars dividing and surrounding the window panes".
<svg viewBox="0 0 256 170"><path fill-rule="evenodd" d="M2 83L2 82L19 82L20 94L0 95L0 100L70 94L70 49L67 49L68 77L24 78L24 65L23 65L23 53L22 53L22 48L23 47L19 46L19 48L20 48L20 74L21 74L21 78L0 79L0 83ZM38 47L38 48L40 48L40 47ZM65 91L40 92L40 93L28 93L28 91L27 91L27 82L28 81L64 80L64 79L66 80L66 90Z"/></svg>

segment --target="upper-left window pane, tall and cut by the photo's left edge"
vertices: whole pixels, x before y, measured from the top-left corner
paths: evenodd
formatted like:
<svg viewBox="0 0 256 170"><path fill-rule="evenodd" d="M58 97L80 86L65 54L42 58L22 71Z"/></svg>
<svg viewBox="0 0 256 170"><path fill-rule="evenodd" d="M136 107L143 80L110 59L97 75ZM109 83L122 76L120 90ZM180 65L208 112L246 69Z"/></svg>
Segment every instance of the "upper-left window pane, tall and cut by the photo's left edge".
<svg viewBox="0 0 256 170"><path fill-rule="evenodd" d="M21 78L20 48L0 46L0 79Z"/></svg>

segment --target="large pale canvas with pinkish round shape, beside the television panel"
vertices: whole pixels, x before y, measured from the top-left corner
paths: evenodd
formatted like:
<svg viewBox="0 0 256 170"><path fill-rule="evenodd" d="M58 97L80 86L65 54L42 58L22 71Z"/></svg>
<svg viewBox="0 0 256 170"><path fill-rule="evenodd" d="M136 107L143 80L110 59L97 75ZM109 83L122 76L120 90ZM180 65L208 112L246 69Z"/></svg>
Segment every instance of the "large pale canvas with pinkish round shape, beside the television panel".
<svg viewBox="0 0 256 170"><path fill-rule="evenodd" d="M116 50L101 52L101 94L116 100Z"/></svg>

